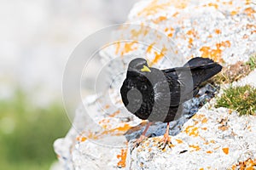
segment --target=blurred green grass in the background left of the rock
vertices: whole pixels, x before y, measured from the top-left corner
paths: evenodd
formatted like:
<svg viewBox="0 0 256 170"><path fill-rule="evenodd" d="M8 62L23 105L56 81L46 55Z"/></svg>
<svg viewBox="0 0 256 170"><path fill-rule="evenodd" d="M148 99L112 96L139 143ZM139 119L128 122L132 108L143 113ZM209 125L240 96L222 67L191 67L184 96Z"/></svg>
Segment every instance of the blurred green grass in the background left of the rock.
<svg viewBox="0 0 256 170"><path fill-rule="evenodd" d="M0 100L0 169L49 169L56 161L53 142L70 127L65 111L58 102L47 108L31 103L21 90Z"/></svg>

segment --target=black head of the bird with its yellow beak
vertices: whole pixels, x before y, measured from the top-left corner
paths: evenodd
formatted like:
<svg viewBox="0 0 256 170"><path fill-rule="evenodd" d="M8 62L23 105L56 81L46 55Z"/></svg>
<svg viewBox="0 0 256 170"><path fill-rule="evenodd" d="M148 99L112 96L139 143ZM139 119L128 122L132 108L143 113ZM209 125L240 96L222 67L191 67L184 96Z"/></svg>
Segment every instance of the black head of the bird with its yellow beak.
<svg viewBox="0 0 256 170"><path fill-rule="evenodd" d="M148 68L148 63L146 59L142 58L132 59L128 65L128 71L137 72L142 75L144 75L147 72L151 72L150 69Z"/></svg>

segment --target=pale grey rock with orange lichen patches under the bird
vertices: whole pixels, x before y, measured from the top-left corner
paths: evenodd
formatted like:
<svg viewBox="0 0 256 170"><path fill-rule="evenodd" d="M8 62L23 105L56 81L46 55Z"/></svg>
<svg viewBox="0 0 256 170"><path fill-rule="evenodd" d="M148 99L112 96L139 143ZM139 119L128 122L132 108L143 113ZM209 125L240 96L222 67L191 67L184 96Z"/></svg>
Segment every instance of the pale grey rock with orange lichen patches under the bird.
<svg viewBox="0 0 256 170"><path fill-rule="evenodd" d="M170 57L173 65L182 65L183 56L186 59L210 57L223 65L247 61L256 52L255 17L255 4L249 1L141 1L131 10L128 21L157 29L163 33L161 36L172 38L173 48L160 43L160 36L161 47L157 51L152 46L158 40L147 37L147 31L130 27L127 34L124 26L115 36L122 36L124 31L123 34L138 39L147 37L152 43L145 46L137 41L122 42L103 48L102 62L119 58L124 64L128 61L122 56L146 53L152 65L162 68L169 65L165 56L168 50L174 54ZM175 55L173 49L181 53L177 51ZM113 62L110 67L113 72L115 66L120 65ZM158 149L166 124L156 122L148 129L147 134L152 137L131 150L132 142L143 132L146 122L125 110L119 98L119 83L108 87L102 95L84 99L67 136L55 141L62 168L236 169L243 164L255 168L256 116L240 117L234 111L214 108L212 97L216 88L209 85L201 88L200 96L183 105L180 119L170 123L171 149ZM106 94L110 94L110 100Z"/></svg>

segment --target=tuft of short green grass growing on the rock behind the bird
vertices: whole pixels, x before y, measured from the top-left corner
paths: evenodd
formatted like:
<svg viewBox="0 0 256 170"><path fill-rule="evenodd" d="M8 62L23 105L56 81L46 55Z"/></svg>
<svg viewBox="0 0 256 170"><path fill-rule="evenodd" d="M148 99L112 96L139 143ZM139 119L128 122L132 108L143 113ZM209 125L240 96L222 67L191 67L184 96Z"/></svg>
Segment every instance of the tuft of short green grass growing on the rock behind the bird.
<svg viewBox="0 0 256 170"><path fill-rule="evenodd" d="M239 115L255 115L256 89L246 85L230 87L217 99L216 107L226 107L239 112Z"/></svg>

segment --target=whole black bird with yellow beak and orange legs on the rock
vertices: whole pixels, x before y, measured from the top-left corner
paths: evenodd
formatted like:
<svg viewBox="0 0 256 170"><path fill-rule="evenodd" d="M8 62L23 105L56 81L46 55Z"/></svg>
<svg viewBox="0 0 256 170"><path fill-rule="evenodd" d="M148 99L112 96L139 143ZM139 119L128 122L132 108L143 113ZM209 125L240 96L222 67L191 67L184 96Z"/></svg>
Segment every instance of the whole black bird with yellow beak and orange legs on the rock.
<svg viewBox="0 0 256 170"><path fill-rule="evenodd" d="M147 61L142 58L131 60L120 94L128 111L148 120L137 144L146 138L148 127L153 122L167 122L160 146L170 146L169 122L181 115L183 102L195 97L201 82L221 70L222 66L212 59L201 57L190 59L183 67L166 70L148 67Z"/></svg>

